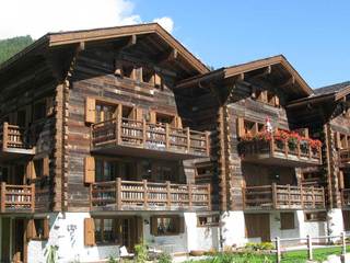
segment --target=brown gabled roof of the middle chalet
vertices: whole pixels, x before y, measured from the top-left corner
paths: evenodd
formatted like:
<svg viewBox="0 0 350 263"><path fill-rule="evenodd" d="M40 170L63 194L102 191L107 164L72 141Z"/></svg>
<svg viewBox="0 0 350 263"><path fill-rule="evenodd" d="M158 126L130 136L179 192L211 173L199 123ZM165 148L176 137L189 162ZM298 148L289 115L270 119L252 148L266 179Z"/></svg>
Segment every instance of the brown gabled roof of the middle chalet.
<svg viewBox="0 0 350 263"><path fill-rule="evenodd" d="M289 89L299 89L299 92L303 96L308 96L313 93L313 90L308 87L306 81L299 75L299 72L292 67L292 65L285 59L283 55L278 55L273 57L268 57L259 60L249 61L246 64L235 65L231 67L221 68L214 71L211 71L206 75L196 76L190 79L180 81L177 84L177 88L191 87L200 81L210 80L215 78L229 79L237 76L242 76L248 72L257 71L259 69L276 67L280 71L279 75L281 78L292 78L293 87Z"/></svg>

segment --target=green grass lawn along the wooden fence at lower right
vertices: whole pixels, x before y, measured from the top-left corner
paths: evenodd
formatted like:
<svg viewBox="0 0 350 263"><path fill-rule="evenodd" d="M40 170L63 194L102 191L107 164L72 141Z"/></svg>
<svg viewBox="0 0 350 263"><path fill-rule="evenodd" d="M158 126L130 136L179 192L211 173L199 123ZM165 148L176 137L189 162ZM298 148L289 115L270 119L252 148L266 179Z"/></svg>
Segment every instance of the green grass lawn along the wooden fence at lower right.
<svg viewBox="0 0 350 263"><path fill-rule="evenodd" d="M347 247L350 252L350 245ZM314 260L323 262L328 255L340 255L341 247L314 249ZM282 254L282 263L304 263L307 260L307 251L289 251ZM218 254L211 259L196 261L196 263L275 263L275 254L252 254L252 253L232 253L232 254ZM188 262L187 262L188 263Z"/></svg>

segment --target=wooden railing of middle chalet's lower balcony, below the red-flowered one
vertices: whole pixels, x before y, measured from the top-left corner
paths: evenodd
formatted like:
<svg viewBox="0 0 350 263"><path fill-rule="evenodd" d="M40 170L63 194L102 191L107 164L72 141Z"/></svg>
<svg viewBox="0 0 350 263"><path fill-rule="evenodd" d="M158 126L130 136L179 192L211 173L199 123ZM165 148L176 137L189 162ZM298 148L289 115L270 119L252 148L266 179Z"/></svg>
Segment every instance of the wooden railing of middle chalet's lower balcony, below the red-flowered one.
<svg viewBox="0 0 350 263"><path fill-rule="evenodd" d="M243 190L246 209L322 209L325 208L323 187L262 185Z"/></svg>

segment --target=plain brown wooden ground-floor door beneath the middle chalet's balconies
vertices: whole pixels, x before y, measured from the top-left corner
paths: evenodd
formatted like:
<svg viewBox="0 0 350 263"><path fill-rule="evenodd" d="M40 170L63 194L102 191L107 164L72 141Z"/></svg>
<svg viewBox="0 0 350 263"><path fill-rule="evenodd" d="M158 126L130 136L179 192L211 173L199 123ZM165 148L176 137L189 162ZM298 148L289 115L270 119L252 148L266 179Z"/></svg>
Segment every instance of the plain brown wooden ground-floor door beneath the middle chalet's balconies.
<svg viewBox="0 0 350 263"><path fill-rule="evenodd" d="M271 240L269 214L245 214L244 218L247 238L261 238L262 242Z"/></svg>

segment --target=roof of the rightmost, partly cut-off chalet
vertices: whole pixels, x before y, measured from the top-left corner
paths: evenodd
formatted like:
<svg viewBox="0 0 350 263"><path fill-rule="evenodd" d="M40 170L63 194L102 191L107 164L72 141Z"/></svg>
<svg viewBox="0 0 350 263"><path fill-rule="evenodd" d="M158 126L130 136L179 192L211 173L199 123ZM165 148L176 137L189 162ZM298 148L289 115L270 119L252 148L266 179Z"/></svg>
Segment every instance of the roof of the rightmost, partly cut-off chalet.
<svg viewBox="0 0 350 263"><path fill-rule="evenodd" d="M350 94L350 81L314 89L314 93L307 98L289 103L288 107L300 106L308 103L337 102Z"/></svg>

